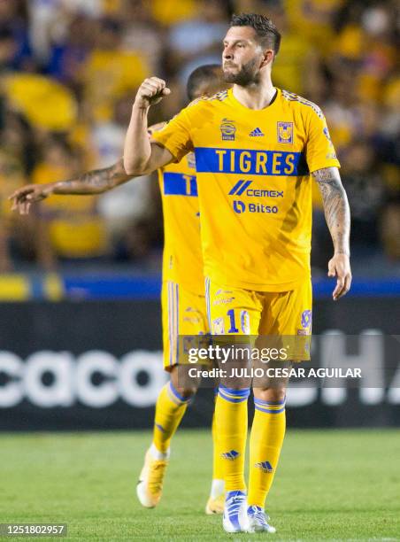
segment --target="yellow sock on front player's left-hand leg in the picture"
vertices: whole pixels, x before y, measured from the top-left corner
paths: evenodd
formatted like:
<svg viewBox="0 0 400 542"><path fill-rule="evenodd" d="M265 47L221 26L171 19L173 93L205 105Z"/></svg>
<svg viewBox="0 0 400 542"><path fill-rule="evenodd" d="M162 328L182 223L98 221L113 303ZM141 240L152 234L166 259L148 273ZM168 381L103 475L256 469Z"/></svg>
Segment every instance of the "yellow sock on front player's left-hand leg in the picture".
<svg viewBox="0 0 400 542"><path fill-rule="evenodd" d="M245 490L244 453L247 437L247 399L250 390L219 385L215 420L222 450L223 478L227 492Z"/></svg>

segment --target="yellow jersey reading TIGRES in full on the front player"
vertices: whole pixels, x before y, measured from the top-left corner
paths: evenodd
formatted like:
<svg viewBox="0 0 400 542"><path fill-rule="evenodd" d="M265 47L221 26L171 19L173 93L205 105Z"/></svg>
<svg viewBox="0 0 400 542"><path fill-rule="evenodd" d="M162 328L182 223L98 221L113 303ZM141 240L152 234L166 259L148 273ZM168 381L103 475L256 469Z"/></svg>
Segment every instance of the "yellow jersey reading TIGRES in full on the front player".
<svg viewBox="0 0 400 542"><path fill-rule="evenodd" d="M310 277L310 172L340 166L317 105L277 89L251 110L229 89L188 105L154 138L176 159L195 151L204 275L260 291Z"/></svg>

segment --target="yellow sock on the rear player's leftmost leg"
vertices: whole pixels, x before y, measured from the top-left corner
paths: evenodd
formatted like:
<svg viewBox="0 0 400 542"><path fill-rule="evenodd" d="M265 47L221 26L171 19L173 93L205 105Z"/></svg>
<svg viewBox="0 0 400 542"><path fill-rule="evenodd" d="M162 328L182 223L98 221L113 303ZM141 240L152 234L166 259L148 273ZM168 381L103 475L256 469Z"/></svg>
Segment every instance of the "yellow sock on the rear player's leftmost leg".
<svg viewBox="0 0 400 542"><path fill-rule="evenodd" d="M168 452L171 438L181 423L190 399L183 398L172 382L166 383L159 392L153 431L153 445L158 452Z"/></svg>

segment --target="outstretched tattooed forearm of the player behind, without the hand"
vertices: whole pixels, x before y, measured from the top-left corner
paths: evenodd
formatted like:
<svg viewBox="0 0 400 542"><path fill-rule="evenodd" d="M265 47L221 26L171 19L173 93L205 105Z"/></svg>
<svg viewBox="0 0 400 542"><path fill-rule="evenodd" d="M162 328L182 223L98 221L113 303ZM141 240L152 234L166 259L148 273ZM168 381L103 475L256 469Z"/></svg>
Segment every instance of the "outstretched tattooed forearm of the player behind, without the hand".
<svg viewBox="0 0 400 542"><path fill-rule="evenodd" d="M58 182L55 194L101 194L126 182L130 176L126 174L123 159L104 169L94 169L81 174L76 179Z"/></svg>

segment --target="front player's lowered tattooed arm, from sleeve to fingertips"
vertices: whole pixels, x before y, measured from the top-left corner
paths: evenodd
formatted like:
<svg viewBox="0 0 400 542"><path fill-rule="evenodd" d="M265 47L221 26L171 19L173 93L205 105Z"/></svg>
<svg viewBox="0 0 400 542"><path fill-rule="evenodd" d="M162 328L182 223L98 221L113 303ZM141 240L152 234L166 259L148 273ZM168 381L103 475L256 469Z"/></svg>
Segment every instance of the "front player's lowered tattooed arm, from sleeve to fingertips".
<svg viewBox="0 0 400 542"><path fill-rule="evenodd" d="M325 218L334 242L334 257L328 263L328 276L336 276L333 298L342 298L351 284L350 207L337 167L326 167L312 173L318 182L324 202Z"/></svg>

